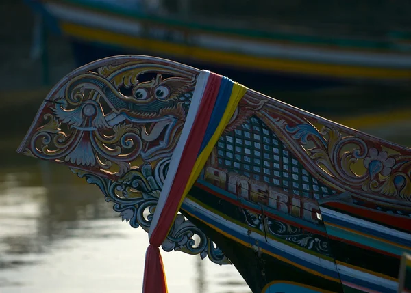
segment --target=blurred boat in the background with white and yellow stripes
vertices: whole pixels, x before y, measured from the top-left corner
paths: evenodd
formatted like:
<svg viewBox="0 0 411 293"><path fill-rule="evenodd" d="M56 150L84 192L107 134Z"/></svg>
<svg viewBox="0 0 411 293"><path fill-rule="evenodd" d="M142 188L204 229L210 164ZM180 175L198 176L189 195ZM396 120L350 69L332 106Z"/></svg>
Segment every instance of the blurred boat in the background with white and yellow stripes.
<svg viewBox="0 0 411 293"><path fill-rule="evenodd" d="M409 23L382 2L371 13L329 1L26 0L48 29L71 40L77 66L156 55L258 89L409 83Z"/></svg>

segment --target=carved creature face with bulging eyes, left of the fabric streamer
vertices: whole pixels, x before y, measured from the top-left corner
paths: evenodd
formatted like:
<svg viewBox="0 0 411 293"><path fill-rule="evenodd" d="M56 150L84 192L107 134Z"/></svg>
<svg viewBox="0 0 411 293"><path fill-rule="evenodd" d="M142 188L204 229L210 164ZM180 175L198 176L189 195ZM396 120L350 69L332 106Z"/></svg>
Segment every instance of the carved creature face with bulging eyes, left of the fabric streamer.
<svg viewBox="0 0 411 293"><path fill-rule="evenodd" d="M171 156L196 75L141 62L96 71L49 94L24 152L118 176L136 161Z"/></svg>

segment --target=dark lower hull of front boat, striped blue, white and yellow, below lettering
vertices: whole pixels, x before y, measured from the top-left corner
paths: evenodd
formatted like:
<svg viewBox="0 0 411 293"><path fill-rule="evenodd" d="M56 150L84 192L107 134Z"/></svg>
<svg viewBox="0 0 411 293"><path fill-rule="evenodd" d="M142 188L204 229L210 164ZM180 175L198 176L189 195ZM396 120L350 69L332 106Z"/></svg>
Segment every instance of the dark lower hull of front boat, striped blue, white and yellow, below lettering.
<svg viewBox="0 0 411 293"><path fill-rule="evenodd" d="M266 221L277 223L278 229L275 225L264 228L251 204L233 204L203 184L197 183L190 191L182 213L225 253L253 293L272 292L270 286L274 290L280 285L291 286L289 292L397 292L401 255L332 237L321 224L286 221L278 214L264 213ZM249 221L246 213L257 219ZM295 233L281 235L282 226ZM321 260L317 264L310 262L314 255Z"/></svg>

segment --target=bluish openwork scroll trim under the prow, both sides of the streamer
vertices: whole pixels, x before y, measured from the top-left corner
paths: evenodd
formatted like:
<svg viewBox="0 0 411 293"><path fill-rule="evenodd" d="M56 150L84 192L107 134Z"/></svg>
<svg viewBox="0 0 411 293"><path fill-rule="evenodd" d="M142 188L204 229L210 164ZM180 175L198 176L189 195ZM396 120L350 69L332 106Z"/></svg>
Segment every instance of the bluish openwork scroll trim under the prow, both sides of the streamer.
<svg viewBox="0 0 411 293"><path fill-rule="evenodd" d="M120 213L123 221L148 232L169 161L169 158L163 159L154 171L147 163L139 170L130 170L116 182L79 169L72 170L80 178L86 178L88 183L99 186L105 201L114 202L113 209ZM182 214L177 214L169 235L162 243L162 249L199 254L201 258L208 256L216 264L231 264L223 252L214 247L210 238Z"/></svg>

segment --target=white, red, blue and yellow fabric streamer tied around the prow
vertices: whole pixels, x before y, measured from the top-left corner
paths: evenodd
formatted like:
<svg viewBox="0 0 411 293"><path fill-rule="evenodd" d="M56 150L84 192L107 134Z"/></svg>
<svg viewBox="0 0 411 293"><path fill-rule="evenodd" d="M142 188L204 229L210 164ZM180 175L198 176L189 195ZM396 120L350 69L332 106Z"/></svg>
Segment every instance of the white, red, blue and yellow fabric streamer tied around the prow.
<svg viewBox="0 0 411 293"><path fill-rule="evenodd" d="M159 247L245 92L247 87L206 70L197 77L186 122L151 221L143 293L168 292Z"/></svg>

